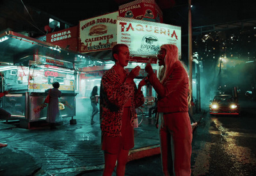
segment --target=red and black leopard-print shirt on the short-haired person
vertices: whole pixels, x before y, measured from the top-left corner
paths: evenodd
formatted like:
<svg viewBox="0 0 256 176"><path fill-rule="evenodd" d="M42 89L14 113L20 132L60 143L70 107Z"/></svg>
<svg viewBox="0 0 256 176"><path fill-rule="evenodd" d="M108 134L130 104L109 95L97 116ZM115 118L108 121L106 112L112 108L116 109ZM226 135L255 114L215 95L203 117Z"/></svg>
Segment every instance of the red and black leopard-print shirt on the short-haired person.
<svg viewBox="0 0 256 176"><path fill-rule="evenodd" d="M144 96L136 84L122 83L112 67L102 76L100 84L100 128L102 135L122 136L122 115L124 105L131 98L131 126L136 117L135 108L143 105Z"/></svg>

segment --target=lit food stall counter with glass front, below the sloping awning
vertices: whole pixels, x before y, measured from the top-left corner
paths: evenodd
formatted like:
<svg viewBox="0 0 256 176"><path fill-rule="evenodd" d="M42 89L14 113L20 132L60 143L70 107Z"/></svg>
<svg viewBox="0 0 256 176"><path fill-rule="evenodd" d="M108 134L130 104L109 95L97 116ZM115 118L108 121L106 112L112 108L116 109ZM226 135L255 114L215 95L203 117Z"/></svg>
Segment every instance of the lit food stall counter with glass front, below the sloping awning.
<svg viewBox="0 0 256 176"><path fill-rule="evenodd" d="M20 62L22 61L22 62ZM19 59L16 65L3 66L4 90L10 90L3 98L3 108L12 118L22 123L46 119L47 104L44 104L53 82L59 82L61 117L76 115L77 73L72 62L53 59L44 55L30 55ZM26 125L25 125L26 127Z"/></svg>

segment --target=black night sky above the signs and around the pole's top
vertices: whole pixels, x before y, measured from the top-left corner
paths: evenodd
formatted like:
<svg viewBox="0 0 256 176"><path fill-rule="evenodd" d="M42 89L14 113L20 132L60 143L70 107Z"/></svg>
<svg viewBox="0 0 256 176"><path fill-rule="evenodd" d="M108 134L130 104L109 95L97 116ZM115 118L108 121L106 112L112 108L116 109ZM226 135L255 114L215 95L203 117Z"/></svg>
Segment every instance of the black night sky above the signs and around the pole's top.
<svg viewBox="0 0 256 176"><path fill-rule="evenodd" d="M118 10L125 0L62 1L23 0L33 6L76 26L79 20L97 17ZM166 0L158 0L166 1ZM131 2L127 1L126 2ZM256 17L255 0L191 0L193 27L234 22ZM165 24L186 26L188 24L188 1L176 0L173 7L162 9Z"/></svg>

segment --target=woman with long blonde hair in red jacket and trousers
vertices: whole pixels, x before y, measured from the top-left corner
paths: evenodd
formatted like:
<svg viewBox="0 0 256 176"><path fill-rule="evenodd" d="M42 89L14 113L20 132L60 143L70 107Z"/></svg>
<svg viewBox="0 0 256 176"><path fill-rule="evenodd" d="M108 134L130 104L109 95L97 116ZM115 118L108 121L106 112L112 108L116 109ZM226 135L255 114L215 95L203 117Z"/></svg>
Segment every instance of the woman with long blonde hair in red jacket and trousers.
<svg viewBox="0 0 256 176"><path fill-rule="evenodd" d="M157 55L164 61L164 75L159 80L150 63L145 70L148 81L158 94L159 135L164 175L191 174L192 130L188 115L189 79L175 45L162 45ZM170 165L171 164L171 165Z"/></svg>

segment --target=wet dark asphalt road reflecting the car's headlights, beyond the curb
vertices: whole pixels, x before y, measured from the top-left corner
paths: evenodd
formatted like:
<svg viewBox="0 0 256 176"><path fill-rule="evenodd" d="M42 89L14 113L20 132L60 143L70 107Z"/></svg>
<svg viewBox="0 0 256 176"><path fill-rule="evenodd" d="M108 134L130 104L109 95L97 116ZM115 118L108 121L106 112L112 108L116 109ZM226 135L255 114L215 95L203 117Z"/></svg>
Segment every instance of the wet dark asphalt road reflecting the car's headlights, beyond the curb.
<svg viewBox="0 0 256 176"><path fill-rule="evenodd" d="M211 117L207 113L193 133L191 176L256 175L255 105L253 101L241 101L238 117ZM102 171L82 175L102 175ZM161 156L127 163L125 175L163 175Z"/></svg>

